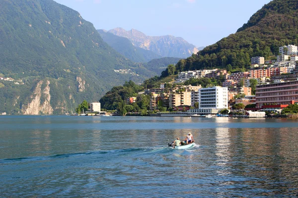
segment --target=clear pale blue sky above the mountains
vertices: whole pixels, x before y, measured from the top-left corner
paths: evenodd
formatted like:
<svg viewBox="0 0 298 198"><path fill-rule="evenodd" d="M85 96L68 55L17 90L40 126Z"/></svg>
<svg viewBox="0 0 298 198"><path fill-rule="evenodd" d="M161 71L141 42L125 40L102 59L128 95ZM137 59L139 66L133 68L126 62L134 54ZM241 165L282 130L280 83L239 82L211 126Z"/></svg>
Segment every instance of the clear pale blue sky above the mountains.
<svg viewBox="0 0 298 198"><path fill-rule="evenodd" d="M136 29L147 36L182 37L196 47L233 34L270 0L55 0L95 29Z"/></svg>

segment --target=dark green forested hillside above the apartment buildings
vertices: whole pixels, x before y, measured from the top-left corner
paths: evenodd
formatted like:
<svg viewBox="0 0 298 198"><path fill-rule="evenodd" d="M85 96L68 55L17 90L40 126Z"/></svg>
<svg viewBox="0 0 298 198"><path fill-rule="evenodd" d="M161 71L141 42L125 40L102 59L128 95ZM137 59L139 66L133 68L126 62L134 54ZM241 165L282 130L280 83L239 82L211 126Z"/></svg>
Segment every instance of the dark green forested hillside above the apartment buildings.
<svg viewBox="0 0 298 198"><path fill-rule="evenodd" d="M274 58L279 47L298 45L298 1L272 0L253 14L235 34L176 64L176 72L203 68L244 71L250 57Z"/></svg>

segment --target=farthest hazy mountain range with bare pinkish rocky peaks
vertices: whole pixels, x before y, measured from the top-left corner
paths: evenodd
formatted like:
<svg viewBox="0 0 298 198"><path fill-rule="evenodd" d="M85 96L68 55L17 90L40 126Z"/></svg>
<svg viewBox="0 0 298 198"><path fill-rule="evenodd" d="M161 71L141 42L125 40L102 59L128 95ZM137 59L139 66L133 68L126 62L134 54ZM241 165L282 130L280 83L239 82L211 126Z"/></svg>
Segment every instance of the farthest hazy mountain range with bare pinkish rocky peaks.
<svg viewBox="0 0 298 198"><path fill-rule="evenodd" d="M198 49L194 45L189 44L181 37L170 35L152 37L135 29L126 31L123 28L115 28L108 32L127 38L134 46L150 50L162 57L186 58L198 52Z"/></svg>

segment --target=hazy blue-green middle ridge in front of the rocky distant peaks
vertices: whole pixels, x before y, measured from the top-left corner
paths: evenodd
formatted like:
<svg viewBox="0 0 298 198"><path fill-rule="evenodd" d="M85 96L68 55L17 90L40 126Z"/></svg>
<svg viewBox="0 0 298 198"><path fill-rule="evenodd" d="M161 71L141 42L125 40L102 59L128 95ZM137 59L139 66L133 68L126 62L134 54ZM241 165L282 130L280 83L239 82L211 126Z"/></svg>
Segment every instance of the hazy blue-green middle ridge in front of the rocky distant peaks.
<svg viewBox="0 0 298 198"><path fill-rule="evenodd" d="M104 42L123 56L134 62L149 62L152 59L161 58L161 55L134 46L127 38L116 36L105 30L97 30Z"/></svg>

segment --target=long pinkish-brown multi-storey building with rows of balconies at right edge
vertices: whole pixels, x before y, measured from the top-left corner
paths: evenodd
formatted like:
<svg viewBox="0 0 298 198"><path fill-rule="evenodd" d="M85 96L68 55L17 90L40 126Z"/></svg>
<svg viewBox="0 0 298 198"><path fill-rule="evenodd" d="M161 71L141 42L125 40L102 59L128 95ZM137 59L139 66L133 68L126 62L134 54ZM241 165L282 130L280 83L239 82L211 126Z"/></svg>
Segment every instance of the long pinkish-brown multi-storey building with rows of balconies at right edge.
<svg viewBox="0 0 298 198"><path fill-rule="evenodd" d="M281 105L296 103L298 100L298 81L273 83L256 86L256 107L279 108Z"/></svg>

